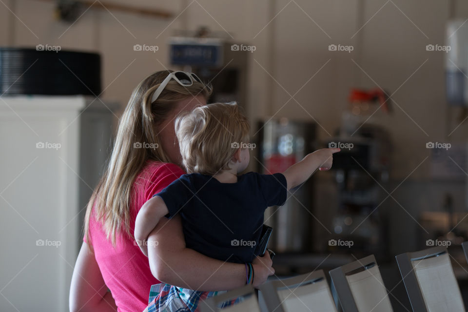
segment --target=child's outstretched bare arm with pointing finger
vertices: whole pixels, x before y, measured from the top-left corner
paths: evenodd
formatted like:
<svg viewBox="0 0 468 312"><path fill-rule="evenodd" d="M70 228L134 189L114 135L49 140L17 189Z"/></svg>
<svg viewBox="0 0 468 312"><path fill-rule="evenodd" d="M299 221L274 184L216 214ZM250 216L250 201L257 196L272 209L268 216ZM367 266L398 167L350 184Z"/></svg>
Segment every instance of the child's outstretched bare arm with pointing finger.
<svg viewBox="0 0 468 312"><path fill-rule="evenodd" d="M320 170L329 170L333 163L333 154L339 151L339 148L324 148L315 151L286 169L283 175L286 177L288 190L307 181L317 168L320 168Z"/></svg>

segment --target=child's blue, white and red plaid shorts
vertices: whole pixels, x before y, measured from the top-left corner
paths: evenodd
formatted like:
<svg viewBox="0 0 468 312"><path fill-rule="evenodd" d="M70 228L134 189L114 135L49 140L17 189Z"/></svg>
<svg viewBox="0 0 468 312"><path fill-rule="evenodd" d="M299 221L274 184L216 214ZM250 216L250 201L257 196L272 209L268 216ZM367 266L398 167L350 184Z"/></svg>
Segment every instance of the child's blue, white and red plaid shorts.
<svg viewBox="0 0 468 312"><path fill-rule="evenodd" d="M180 288L169 284L152 285L148 312L199 312L197 309L200 300L213 297L222 292L199 292ZM220 308L236 303L239 299L224 302Z"/></svg>

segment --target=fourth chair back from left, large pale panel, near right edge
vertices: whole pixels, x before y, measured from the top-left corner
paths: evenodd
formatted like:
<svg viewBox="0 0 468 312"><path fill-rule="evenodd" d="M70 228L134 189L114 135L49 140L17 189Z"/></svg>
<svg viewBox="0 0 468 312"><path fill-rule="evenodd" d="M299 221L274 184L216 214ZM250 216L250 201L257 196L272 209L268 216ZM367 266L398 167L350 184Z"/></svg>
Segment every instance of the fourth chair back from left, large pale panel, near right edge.
<svg viewBox="0 0 468 312"><path fill-rule="evenodd" d="M466 311L447 248L396 256L413 311Z"/></svg>

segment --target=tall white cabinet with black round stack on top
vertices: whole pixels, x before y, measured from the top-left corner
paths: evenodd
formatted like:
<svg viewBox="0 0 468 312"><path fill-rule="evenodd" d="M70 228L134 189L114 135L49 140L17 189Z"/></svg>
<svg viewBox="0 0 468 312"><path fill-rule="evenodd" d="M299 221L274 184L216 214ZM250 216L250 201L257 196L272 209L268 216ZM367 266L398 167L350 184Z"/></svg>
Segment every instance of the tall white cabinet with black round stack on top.
<svg viewBox="0 0 468 312"><path fill-rule="evenodd" d="M83 96L0 97L0 311L68 311L116 109Z"/></svg>

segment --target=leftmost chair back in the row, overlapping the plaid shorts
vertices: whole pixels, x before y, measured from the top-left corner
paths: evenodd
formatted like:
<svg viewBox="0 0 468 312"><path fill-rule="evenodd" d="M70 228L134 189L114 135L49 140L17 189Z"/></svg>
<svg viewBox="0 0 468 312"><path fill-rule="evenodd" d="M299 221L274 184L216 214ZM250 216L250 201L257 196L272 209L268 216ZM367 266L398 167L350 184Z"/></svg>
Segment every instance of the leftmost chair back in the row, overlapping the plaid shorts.
<svg viewBox="0 0 468 312"><path fill-rule="evenodd" d="M226 308L219 307L223 302L230 301L238 297L242 297L243 300ZM244 287L207 298L199 303L199 307L201 312L260 312L257 296L255 295L255 290L252 285L246 285Z"/></svg>

